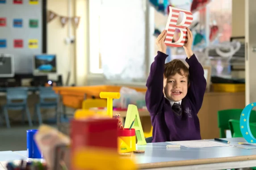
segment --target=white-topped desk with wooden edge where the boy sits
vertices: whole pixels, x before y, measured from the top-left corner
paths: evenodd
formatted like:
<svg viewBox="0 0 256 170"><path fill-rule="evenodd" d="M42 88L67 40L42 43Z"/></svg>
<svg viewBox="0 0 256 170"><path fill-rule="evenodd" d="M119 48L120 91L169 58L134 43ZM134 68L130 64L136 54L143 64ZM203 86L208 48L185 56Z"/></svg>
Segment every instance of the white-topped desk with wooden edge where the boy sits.
<svg viewBox="0 0 256 170"><path fill-rule="evenodd" d="M232 142L245 142L244 138L227 138ZM137 146L145 154L136 154L139 169L144 170L223 170L256 166L256 149L236 147L166 148L167 142ZM7 155L6 155L7 154ZM1 156L2 155L2 156ZM3 155L5 158L3 158ZM0 161L26 158L26 151L0 152ZM2 162L0 162L2 163ZM0 169L1 170L1 169Z"/></svg>

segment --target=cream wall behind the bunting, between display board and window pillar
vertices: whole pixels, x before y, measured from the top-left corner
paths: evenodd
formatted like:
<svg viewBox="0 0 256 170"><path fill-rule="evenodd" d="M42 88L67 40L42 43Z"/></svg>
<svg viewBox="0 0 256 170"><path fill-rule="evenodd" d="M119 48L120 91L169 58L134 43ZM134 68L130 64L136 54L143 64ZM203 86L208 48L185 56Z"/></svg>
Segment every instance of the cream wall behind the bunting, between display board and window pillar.
<svg viewBox="0 0 256 170"><path fill-rule="evenodd" d="M71 15L74 16L74 0L71 0ZM60 8L61 7L61 8ZM58 15L68 16L68 0L48 0L47 9ZM75 45L65 44L65 38L69 36L69 25L64 28L59 17L47 24L47 53L57 55L58 73L63 76L63 83L67 80L68 72L71 72L69 85L75 83ZM74 29L71 26L71 36L74 36Z"/></svg>

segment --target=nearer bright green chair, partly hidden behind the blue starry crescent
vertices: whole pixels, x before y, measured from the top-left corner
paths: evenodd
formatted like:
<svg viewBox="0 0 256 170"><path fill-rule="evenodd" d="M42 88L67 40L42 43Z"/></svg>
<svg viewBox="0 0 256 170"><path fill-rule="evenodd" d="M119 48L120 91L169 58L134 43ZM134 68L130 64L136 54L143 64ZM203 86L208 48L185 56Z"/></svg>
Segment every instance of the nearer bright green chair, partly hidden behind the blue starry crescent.
<svg viewBox="0 0 256 170"><path fill-rule="evenodd" d="M229 122L232 138L243 137L240 130L240 120L230 119L228 122ZM252 135L256 137L256 123L249 123L249 126L252 132ZM251 167L251 169L256 170L256 167Z"/></svg>

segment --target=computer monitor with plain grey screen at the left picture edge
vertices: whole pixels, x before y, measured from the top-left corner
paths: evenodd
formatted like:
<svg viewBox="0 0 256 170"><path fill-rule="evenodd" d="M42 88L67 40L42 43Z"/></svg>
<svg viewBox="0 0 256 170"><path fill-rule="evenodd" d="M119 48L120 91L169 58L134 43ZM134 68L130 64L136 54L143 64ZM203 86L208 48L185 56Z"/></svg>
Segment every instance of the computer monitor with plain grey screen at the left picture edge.
<svg viewBox="0 0 256 170"><path fill-rule="evenodd" d="M13 55L0 54L0 77L14 77Z"/></svg>

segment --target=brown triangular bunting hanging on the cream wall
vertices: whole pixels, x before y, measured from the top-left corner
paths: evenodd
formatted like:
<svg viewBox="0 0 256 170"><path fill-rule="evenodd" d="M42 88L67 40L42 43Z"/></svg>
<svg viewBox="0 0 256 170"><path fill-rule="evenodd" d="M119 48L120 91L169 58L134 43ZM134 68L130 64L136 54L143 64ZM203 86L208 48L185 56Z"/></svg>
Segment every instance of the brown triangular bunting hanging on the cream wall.
<svg viewBox="0 0 256 170"><path fill-rule="evenodd" d="M68 16L60 16L55 12L48 11L48 17L47 17L47 22L49 23L50 21L54 20L55 18L59 17L60 23L62 27L65 27L65 25L68 22L73 22L76 28L78 28L78 25L80 23L80 16L74 16L74 17L68 17Z"/></svg>

